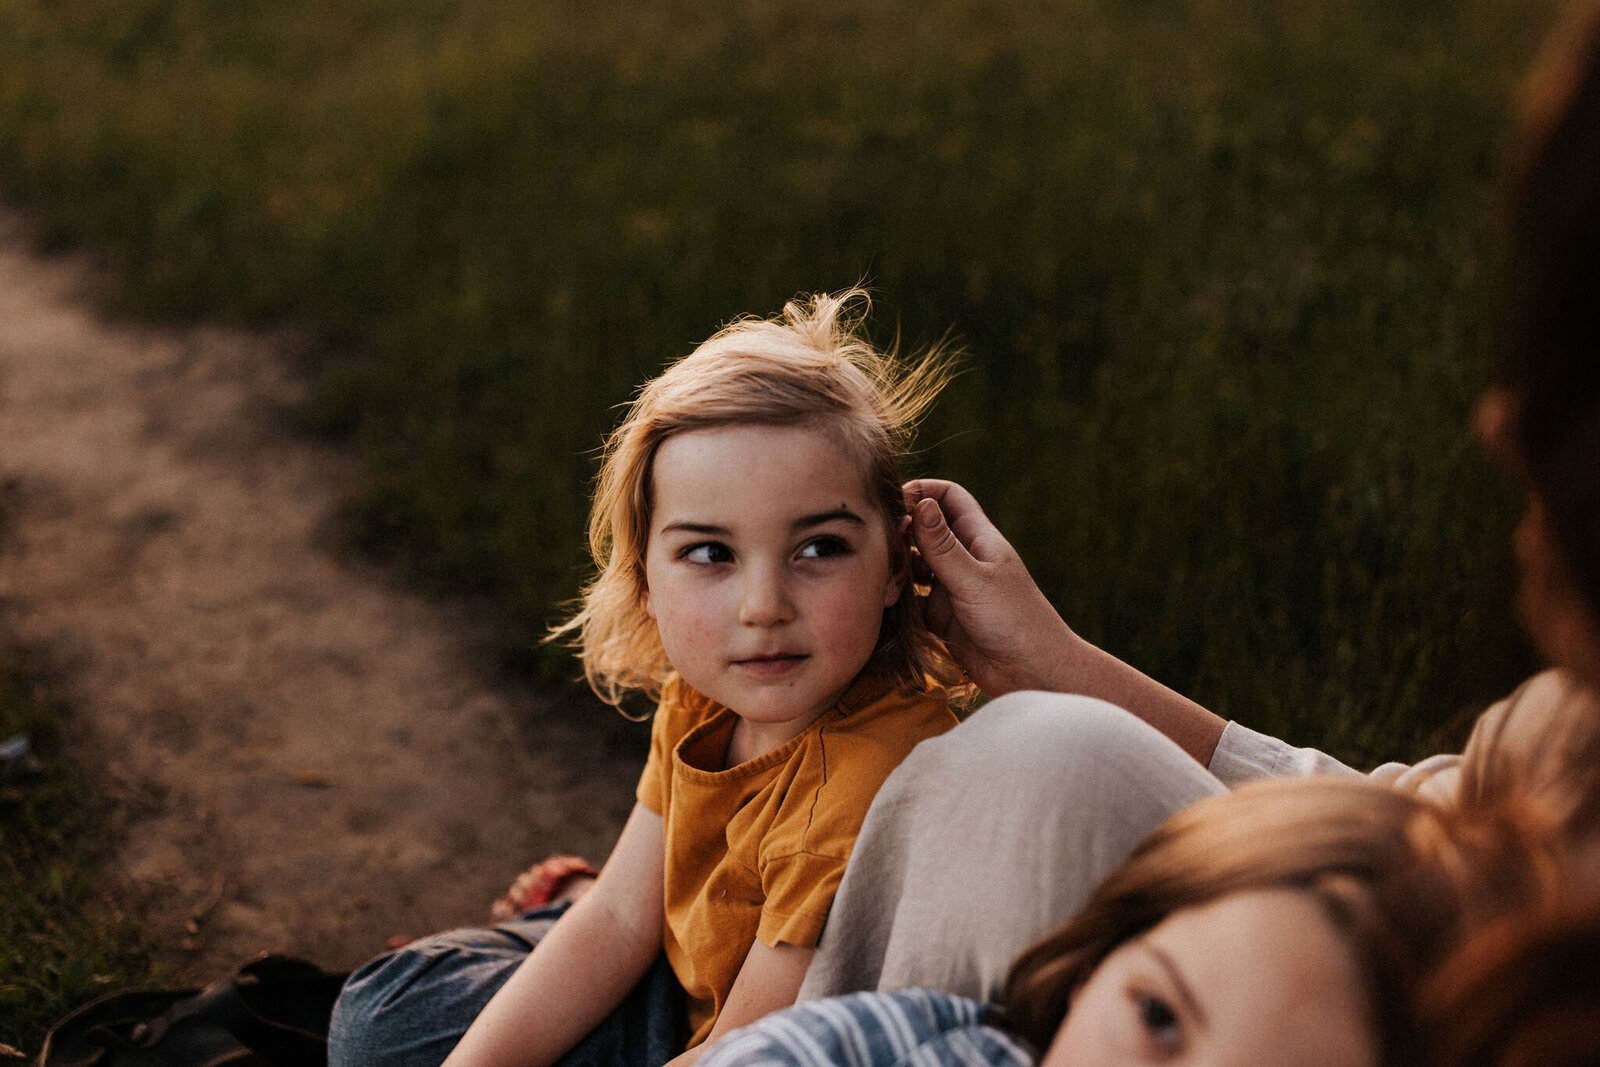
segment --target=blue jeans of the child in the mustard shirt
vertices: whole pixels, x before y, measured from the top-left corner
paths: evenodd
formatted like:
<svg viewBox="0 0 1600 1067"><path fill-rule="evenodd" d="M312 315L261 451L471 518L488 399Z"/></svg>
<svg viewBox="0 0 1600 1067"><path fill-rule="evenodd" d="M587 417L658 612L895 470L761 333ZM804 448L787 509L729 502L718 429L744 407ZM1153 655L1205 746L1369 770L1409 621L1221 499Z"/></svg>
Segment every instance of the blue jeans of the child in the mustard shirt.
<svg viewBox="0 0 1600 1067"><path fill-rule="evenodd" d="M330 1067L438 1067L566 905L499 926L453 929L384 953L350 974L333 1008ZM686 1008L659 957L563 1067L661 1067L683 1051Z"/></svg>

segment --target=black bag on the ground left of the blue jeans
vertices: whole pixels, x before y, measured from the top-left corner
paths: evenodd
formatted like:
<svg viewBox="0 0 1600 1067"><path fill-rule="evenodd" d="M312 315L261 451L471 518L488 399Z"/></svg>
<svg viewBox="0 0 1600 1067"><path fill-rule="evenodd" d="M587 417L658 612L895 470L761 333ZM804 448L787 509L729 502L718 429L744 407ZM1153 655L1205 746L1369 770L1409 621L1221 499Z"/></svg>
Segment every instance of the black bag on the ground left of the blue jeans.
<svg viewBox="0 0 1600 1067"><path fill-rule="evenodd" d="M205 989L110 993L58 1022L37 1067L325 1067L344 985L262 955Z"/></svg>

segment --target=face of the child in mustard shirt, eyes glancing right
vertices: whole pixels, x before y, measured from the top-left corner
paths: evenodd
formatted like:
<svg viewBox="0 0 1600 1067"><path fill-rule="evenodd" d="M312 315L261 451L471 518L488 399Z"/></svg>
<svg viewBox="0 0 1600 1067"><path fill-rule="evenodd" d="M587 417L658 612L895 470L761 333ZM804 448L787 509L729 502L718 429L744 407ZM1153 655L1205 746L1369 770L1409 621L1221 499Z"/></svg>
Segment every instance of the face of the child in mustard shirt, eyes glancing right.
<svg viewBox="0 0 1600 1067"><path fill-rule="evenodd" d="M872 656L906 584L854 456L827 430L728 426L656 453L645 609L683 678L768 752Z"/></svg>

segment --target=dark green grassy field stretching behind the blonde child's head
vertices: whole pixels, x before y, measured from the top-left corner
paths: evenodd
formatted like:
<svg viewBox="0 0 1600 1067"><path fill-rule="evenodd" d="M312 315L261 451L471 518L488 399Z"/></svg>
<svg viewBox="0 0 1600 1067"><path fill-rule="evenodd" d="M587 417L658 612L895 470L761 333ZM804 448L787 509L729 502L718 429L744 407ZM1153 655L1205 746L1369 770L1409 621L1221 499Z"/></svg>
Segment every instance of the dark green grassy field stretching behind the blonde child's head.
<svg viewBox="0 0 1600 1067"><path fill-rule="evenodd" d="M614 405L866 278L918 472L1224 715L1414 755L1526 664L1466 427L1542 2L0 0L0 184L154 315L326 338L352 539L539 649Z"/></svg>

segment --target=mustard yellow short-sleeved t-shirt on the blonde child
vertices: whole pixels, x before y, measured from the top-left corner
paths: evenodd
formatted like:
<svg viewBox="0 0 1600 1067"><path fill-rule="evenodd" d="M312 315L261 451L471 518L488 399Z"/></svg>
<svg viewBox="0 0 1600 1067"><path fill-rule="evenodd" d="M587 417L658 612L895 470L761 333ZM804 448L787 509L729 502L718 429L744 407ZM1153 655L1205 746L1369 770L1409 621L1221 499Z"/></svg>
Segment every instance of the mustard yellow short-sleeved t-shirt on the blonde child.
<svg viewBox="0 0 1600 1067"><path fill-rule="evenodd" d="M664 947L688 993L691 1046L757 937L816 944L878 785L955 715L938 686L867 673L787 744L723 768L736 721L672 675L638 779L638 803L666 822Z"/></svg>

